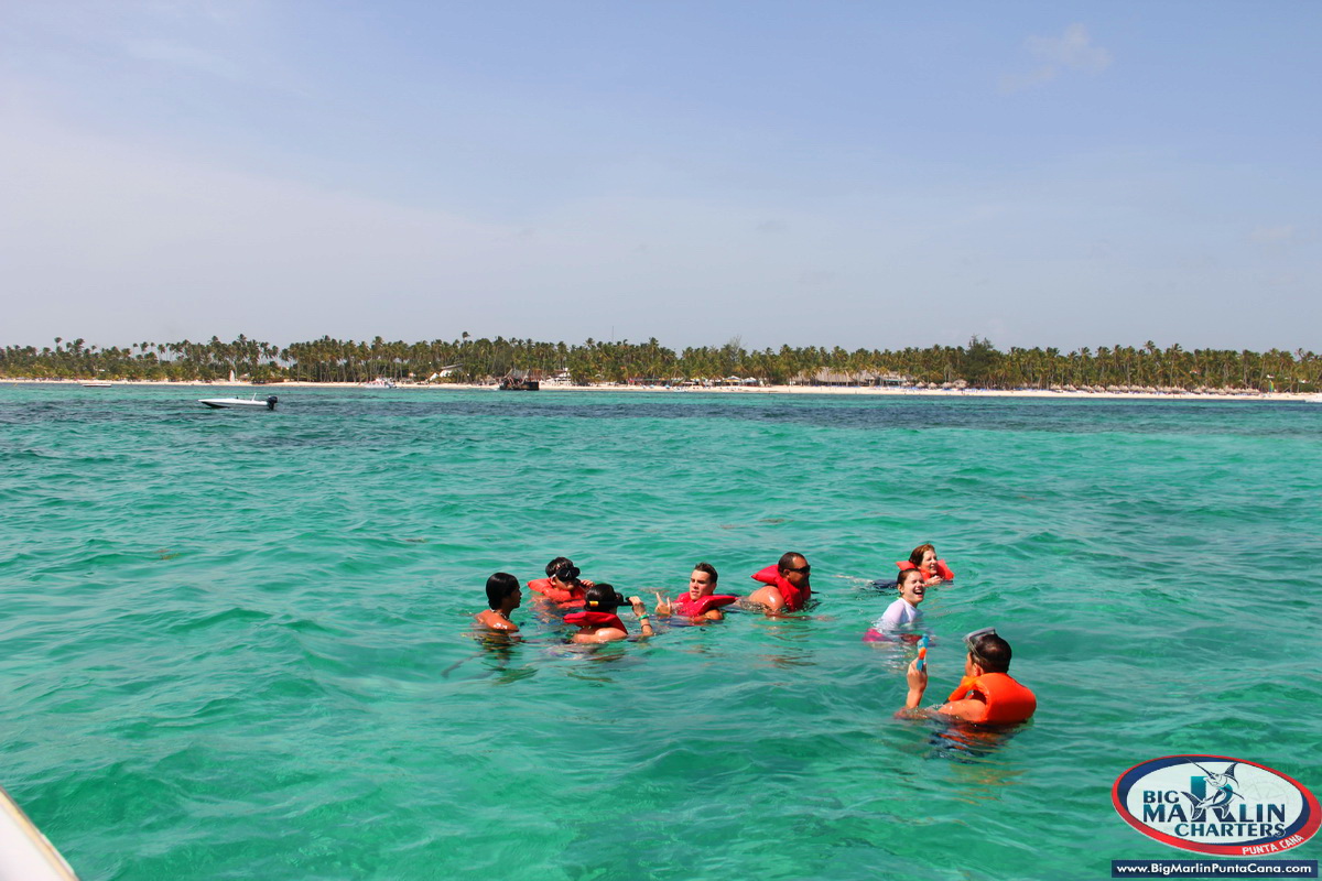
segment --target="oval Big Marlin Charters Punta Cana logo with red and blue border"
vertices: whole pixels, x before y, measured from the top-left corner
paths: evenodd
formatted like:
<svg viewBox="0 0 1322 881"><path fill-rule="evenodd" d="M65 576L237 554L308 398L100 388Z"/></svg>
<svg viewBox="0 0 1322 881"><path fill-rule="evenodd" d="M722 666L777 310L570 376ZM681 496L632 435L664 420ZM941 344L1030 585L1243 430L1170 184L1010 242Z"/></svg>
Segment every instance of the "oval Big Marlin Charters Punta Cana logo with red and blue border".
<svg viewBox="0 0 1322 881"><path fill-rule="evenodd" d="M1322 824L1298 781L1225 756L1166 756L1116 778L1125 823L1163 844L1219 856L1266 856L1303 844Z"/></svg>

